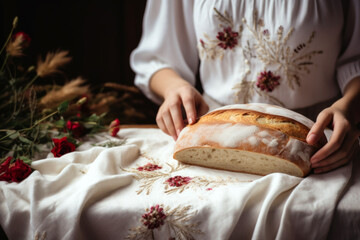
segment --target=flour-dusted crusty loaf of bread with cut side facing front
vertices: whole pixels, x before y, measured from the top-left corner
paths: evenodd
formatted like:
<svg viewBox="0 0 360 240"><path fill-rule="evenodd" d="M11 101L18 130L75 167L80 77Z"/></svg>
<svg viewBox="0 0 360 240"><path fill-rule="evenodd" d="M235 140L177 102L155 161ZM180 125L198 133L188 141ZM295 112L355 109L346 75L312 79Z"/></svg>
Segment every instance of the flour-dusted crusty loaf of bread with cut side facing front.
<svg viewBox="0 0 360 240"><path fill-rule="evenodd" d="M216 169L304 177L320 146L306 143L314 123L291 110L268 104L236 104L216 109L186 126L174 159Z"/></svg>

